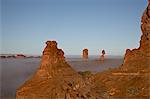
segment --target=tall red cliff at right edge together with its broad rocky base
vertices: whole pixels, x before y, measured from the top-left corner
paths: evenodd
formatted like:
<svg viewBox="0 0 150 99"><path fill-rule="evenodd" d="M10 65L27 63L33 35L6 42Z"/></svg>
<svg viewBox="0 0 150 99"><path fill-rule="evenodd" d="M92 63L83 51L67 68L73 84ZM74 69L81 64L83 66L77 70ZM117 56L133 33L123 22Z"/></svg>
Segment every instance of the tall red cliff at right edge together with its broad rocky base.
<svg viewBox="0 0 150 99"><path fill-rule="evenodd" d="M127 49L118 69L97 73L92 79L95 90L101 86L104 98L150 99L150 2L141 22L140 47Z"/></svg>

